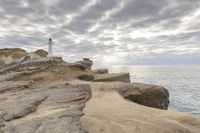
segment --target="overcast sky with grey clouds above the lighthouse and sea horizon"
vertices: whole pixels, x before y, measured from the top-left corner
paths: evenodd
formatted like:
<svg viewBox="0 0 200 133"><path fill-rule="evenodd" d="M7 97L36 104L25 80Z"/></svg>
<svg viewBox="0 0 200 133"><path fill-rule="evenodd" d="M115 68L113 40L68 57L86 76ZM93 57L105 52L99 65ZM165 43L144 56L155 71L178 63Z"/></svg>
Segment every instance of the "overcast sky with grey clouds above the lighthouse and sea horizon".
<svg viewBox="0 0 200 133"><path fill-rule="evenodd" d="M200 0L0 0L0 48L96 65L200 64Z"/></svg>

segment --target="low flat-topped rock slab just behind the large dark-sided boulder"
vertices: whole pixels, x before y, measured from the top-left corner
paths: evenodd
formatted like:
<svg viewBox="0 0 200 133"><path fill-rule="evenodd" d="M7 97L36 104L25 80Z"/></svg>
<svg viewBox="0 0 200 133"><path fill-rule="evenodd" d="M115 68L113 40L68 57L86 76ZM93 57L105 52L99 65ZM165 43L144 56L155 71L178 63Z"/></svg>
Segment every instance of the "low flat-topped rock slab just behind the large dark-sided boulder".
<svg viewBox="0 0 200 133"><path fill-rule="evenodd" d="M130 82L129 73L112 73L112 74L95 74L94 81L96 82Z"/></svg>

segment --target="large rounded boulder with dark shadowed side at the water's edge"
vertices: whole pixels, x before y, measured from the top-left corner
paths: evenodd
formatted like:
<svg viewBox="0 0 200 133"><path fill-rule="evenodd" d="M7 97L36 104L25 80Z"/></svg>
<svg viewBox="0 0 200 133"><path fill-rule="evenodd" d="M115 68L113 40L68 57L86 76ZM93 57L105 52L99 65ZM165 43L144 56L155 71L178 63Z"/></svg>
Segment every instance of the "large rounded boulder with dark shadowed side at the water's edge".
<svg viewBox="0 0 200 133"><path fill-rule="evenodd" d="M169 92L162 86L133 83L119 90L124 98L138 104L165 110L168 108Z"/></svg>

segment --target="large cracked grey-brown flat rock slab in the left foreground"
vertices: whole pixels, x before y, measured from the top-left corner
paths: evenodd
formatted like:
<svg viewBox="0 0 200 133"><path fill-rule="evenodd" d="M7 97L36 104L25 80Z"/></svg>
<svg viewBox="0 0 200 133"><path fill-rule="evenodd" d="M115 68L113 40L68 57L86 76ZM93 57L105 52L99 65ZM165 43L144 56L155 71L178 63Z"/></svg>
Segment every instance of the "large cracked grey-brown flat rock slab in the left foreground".
<svg viewBox="0 0 200 133"><path fill-rule="evenodd" d="M88 85L59 85L0 93L2 133L85 133L80 117Z"/></svg>

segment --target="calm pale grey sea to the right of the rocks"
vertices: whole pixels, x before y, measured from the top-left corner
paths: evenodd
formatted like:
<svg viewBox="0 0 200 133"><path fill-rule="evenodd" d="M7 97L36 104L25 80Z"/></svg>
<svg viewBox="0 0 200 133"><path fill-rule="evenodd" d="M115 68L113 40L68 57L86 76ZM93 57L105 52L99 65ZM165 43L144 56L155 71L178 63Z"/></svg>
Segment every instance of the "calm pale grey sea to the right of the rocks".
<svg viewBox="0 0 200 133"><path fill-rule="evenodd" d="M170 93L170 110L200 117L200 65L112 66L110 73L129 72L131 82L157 84Z"/></svg>

